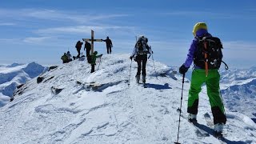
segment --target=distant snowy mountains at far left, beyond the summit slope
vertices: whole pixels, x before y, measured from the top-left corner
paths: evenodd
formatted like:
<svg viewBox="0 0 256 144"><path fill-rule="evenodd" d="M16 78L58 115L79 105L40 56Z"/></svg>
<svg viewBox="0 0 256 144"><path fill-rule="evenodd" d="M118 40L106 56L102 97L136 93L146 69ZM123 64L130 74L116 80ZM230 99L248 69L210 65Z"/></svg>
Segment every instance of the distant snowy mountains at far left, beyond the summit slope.
<svg viewBox="0 0 256 144"><path fill-rule="evenodd" d="M35 62L29 64L13 63L10 66L0 66L0 107L10 102L17 86L31 78L37 77L46 68Z"/></svg>

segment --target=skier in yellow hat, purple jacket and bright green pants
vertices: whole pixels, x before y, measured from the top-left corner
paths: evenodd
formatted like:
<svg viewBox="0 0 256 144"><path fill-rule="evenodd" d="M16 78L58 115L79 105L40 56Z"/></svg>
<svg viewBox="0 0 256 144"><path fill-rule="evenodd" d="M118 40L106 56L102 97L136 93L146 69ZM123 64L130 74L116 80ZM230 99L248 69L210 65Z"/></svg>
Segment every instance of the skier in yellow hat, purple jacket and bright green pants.
<svg viewBox="0 0 256 144"><path fill-rule="evenodd" d="M214 134L222 136L223 126L226 124L225 110L219 91L220 75L218 73L218 68L222 62L222 43L218 38L212 37L208 33L206 23L204 22L198 22L194 26L193 34L195 38L190 45L186 62L179 68L179 73L185 74L192 62L194 62L188 96L188 119L190 122L197 122L198 94L202 90L202 84L206 83L207 95L214 116ZM210 41L214 42L214 44L210 45L204 38L214 39L214 41ZM215 47L217 47L216 50ZM213 48L214 52L210 51Z"/></svg>

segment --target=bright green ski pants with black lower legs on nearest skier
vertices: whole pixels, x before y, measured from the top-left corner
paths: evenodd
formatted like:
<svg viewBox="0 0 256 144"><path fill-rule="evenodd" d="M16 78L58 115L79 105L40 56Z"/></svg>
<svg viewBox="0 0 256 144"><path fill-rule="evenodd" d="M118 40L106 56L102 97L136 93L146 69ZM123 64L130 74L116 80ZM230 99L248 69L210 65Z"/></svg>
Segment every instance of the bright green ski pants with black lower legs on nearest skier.
<svg viewBox="0 0 256 144"><path fill-rule="evenodd" d="M207 95L210 100L211 110L214 116L214 123L226 123L226 115L219 91L220 75L217 69L209 70L206 77L206 70L194 69L191 77L191 85L188 97L188 109L190 114L198 114L198 94L201 86L206 83Z"/></svg>

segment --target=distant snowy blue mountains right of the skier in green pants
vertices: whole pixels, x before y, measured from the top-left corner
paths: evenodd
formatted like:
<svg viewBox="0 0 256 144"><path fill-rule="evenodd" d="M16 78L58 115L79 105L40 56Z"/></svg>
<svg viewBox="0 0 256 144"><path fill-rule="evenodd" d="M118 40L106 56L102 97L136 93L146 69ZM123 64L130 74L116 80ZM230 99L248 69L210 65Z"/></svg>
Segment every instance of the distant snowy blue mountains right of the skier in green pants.
<svg viewBox="0 0 256 144"><path fill-rule="evenodd" d="M223 101L231 111L256 119L256 68L249 70L224 70L221 72Z"/></svg>

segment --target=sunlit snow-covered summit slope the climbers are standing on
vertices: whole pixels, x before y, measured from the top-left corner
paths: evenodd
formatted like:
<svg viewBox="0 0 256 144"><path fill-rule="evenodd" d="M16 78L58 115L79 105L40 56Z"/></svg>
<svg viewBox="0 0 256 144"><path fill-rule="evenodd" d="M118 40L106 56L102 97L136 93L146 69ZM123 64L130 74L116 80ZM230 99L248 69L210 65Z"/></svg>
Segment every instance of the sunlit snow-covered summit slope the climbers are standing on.
<svg viewBox="0 0 256 144"><path fill-rule="evenodd" d="M0 109L0 142L176 142L182 77L165 64L149 60L148 88L143 88L135 83L137 64L131 63L129 57L128 54L103 55L102 63L96 65L92 74L88 63L76 60L42 74L41 83L36 78L26 82L14 101ZM97 87L91 87L89 82L97 82L94 85ZM186 79L184 112L189 87ZM210 113L210 104L203 90L198 122L210 136L198 137L194 126L181 118L179 142L220 143L203 119L207 112ZM249 117L230 110L226 114L224 143L256 143L256 126Z"/></svg>

